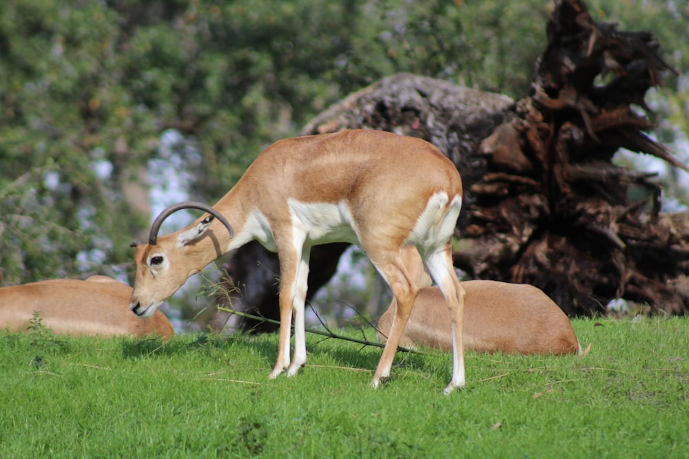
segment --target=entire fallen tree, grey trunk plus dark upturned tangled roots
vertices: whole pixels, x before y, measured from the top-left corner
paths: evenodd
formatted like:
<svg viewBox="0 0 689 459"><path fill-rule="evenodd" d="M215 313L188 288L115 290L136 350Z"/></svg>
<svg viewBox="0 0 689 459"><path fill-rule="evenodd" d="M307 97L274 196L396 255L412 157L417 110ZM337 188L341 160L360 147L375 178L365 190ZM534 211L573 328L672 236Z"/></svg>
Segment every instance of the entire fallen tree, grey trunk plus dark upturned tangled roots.
<svg viewBox="0 0 689 459"><path fill-rule="evenodd" d="M522 100L398 74L333 105L302 134L381 129L440 148L464 182L455 265L469 277L533 284L570 315L605 313L615 298L683 314L688 216L659 213L651 174L611 162L626 148L684 168L644 134L652 125L633 109L648 112L646 91L670 70L658 51L650 32L619 32L595 23L583 1L561 0ZM239 249L227 269L235 284L260 284L252 306L276 317L274 277L250 268L276 255L255 250ZM311 270L334 273L342 247L322 250ZM238 276L243 253L253 264ZM327 279L309 278L309 292Z"/></svg>

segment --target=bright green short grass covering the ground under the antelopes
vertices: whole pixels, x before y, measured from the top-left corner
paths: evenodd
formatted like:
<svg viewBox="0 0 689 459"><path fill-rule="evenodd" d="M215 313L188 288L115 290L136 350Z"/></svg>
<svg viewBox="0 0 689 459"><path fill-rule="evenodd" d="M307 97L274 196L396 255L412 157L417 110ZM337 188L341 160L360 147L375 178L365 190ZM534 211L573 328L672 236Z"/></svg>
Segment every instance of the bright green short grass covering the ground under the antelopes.
<svg viewBox="0 0 689 459"><path fill-rule="evenodd" d="M316 335L271 381L275 335L0 334L0 457L688 457L689 319L573 325L583 359L469 353L449 396L440 352L373 390L379 348Z"/></svg>

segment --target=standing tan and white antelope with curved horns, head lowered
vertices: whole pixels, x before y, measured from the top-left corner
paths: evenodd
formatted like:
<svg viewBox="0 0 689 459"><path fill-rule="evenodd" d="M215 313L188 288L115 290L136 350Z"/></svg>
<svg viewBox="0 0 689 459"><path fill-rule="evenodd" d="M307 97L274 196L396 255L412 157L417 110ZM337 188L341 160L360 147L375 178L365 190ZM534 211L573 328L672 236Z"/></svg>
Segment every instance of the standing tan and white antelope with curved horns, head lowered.
<svg viewBox="0 0 689 459"><path fill-rule="evenodd" d="M213 208L182 203L158 215L149 243L134 243L136 280L130 307L141 317L150 316L189 276L256 239L280 259L280 337L270 377L285 370L292 376L307 359L304 303L311 246L358 244L399 305L371 381L378 387L389 377L402 330L422 287L409 275L401 255L405 246L415 246L442 290L453 323L453 371L445 388L449 393L465 383L464 290L452 266L450 245L461 204L457 168L424 140L369 130L280 140L256 158ZM163 220L185 207L211 215L158 237Z"/></svg>

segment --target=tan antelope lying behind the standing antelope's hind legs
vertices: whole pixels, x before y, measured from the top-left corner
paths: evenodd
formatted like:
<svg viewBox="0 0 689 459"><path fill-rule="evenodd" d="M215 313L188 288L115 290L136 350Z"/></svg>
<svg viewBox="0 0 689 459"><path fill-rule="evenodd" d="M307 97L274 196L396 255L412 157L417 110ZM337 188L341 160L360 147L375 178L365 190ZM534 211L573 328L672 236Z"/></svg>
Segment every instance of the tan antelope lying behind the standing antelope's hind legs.
<svg viewBox="0 0 689 459"><path fill-rule="evenodd" d="M503 354L582 353L572 325L542 290L528 284L464 281L464 349ZM452 332L440 290L419 290L400 345L449 351ZM383 342L395 317L395 300L378 320Z"/></svg>

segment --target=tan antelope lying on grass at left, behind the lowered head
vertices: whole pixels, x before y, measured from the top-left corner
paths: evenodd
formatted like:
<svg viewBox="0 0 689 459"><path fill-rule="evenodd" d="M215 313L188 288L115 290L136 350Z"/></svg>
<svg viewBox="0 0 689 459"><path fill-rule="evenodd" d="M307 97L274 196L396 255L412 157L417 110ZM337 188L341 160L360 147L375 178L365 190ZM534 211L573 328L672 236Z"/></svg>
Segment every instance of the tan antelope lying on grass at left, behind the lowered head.
<svg viewBox="0 0 689 459"><path fill-rule="evenodd" d="M129 310L131 296L130 286L105 276L0 288L0 330L26 330L37 311L56 334L172 337L174 329L163 312L137 319Z"/></svg>

